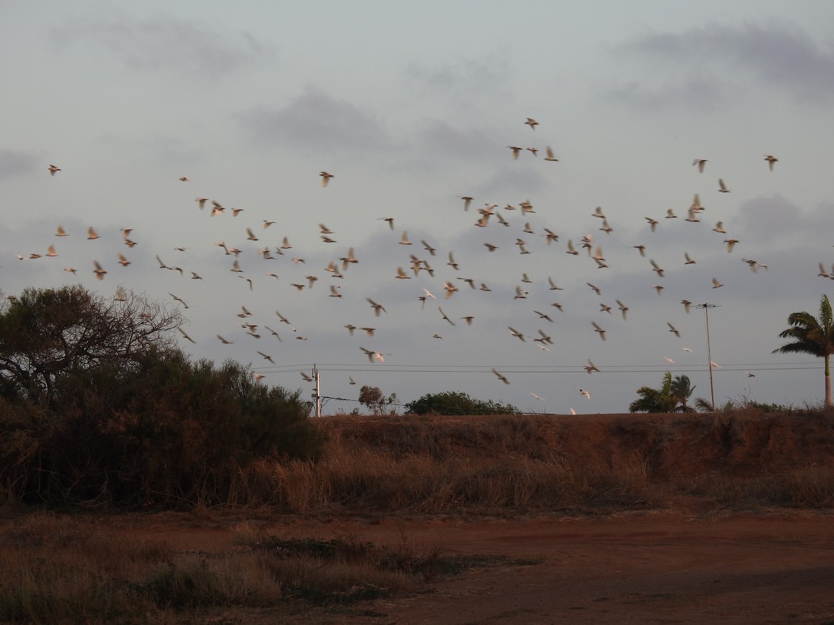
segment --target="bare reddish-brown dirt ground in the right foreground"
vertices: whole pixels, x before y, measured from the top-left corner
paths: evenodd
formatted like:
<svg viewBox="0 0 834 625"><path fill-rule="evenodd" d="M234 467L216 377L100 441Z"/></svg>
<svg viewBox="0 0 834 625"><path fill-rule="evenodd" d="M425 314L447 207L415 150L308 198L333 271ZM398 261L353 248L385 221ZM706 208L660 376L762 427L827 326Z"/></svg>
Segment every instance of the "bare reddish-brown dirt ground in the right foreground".
<svg viewBox="0 0 834 625"><path fill-rule="evenodd" d="M477 568L427 592L373 602L366 607L376 616L318 615L308 622L834 623L831 516L294 519L267 529L283 537L354 536L391 546L405 539L447 554L540 561ZM182 549L236 548L229 529L153 522L131 532Z"/></svg>

